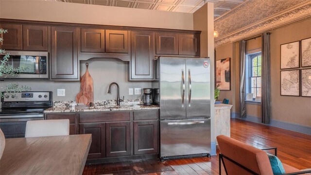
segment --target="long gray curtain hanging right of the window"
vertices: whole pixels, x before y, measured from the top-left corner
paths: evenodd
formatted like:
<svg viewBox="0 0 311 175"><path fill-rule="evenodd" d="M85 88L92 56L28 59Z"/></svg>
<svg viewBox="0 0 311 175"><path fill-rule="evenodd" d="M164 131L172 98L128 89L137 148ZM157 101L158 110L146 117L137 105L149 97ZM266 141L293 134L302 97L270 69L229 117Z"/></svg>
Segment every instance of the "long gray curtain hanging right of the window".
<svg viewBox="0 0 311 175"><path fill-rule="evenodd" d="M270 123L271 77L270 77L270 33L261 36L261 122Z"/></svg>

